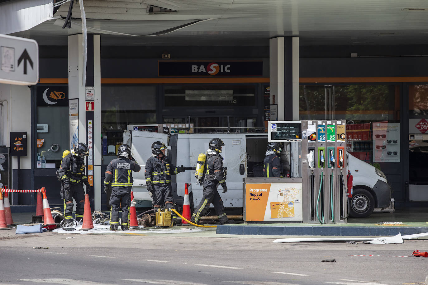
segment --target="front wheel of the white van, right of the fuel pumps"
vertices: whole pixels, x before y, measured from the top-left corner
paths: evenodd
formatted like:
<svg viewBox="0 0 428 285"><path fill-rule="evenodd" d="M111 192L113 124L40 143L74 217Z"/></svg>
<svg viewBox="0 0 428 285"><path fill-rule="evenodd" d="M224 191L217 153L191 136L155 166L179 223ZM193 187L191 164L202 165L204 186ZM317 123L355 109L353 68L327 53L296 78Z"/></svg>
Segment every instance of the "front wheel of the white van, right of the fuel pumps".
<svg viewBox="0 0 428 285"><path fill-rule="evenodd" d="M349 198L349 200L351 206L351 217L369 217L375 209L375 198L373 198L373 195L366 189L354 189L352 198Z"/></svg>

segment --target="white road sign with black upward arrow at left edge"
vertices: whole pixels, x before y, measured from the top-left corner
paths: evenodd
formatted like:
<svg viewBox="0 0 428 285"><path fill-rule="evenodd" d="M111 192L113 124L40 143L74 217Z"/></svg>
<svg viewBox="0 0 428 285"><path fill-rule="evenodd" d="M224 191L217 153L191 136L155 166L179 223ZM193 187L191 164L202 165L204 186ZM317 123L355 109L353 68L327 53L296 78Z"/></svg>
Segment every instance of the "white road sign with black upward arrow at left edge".
<svg viewBox="0 0 428 285"><path fill-rule="evenodd" d="M39 45L28 38L0 35L0 83L36 85Z"/></svg>

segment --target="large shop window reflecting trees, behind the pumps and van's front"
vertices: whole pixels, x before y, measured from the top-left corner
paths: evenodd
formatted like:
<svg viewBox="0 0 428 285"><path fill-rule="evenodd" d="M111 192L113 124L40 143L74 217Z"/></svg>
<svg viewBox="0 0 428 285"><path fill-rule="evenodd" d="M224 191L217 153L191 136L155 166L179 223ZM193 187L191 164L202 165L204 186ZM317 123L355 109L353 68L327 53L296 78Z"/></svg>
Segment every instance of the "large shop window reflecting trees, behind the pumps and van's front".
<svg viewBox="0 0 428 285"><path fill-rule="evenodd" d="M399 85L302 85L299 99L301 120L347 121L353 156L369 163L400 162Z"/></svg>

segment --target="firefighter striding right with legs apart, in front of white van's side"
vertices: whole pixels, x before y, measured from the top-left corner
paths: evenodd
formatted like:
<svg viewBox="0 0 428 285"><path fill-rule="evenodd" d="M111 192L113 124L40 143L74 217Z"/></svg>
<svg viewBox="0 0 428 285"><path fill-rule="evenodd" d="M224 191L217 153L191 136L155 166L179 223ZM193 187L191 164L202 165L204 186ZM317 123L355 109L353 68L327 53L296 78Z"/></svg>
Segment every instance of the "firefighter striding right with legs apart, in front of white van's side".
<svg viewBox="0 0 428 285"><path fill-rule="evenodd" d="M210 145L207 150L207 157L205 160L205 173L202 178L202 200L190 218L190 221L193 223L199 223L201 217L208 213L211 203L214 206L214 210L221 224L233 222L233 220L229 220L229 218L226 216L226 212L223 207L223 201L221 200L220 194L217 191L219 184L223 188L223 193L226 193L227 191L226 177L223 167L223 157L220 155L222 146L224 146L224 143L220 138L213 138L210 141Z"/></svg>

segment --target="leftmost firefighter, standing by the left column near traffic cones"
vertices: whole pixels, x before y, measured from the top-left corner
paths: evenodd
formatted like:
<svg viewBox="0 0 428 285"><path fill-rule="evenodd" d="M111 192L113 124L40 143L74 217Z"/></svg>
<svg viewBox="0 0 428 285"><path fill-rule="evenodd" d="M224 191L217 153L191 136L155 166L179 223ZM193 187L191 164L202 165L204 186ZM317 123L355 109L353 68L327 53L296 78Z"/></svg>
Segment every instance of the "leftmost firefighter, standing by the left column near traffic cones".
<svg viewBox="0 0 428 285"><path fill-rule="evenodd" d="M61 198L64 200L64 217L68 225L73 223L73 199L76 202L76 220L83 219L83 206L86 194L91 191L91 186L86 176L84 158L89 155L86 144L78 143L71 150L71 153L63 157L58 175L63 183Z"/></svg>

